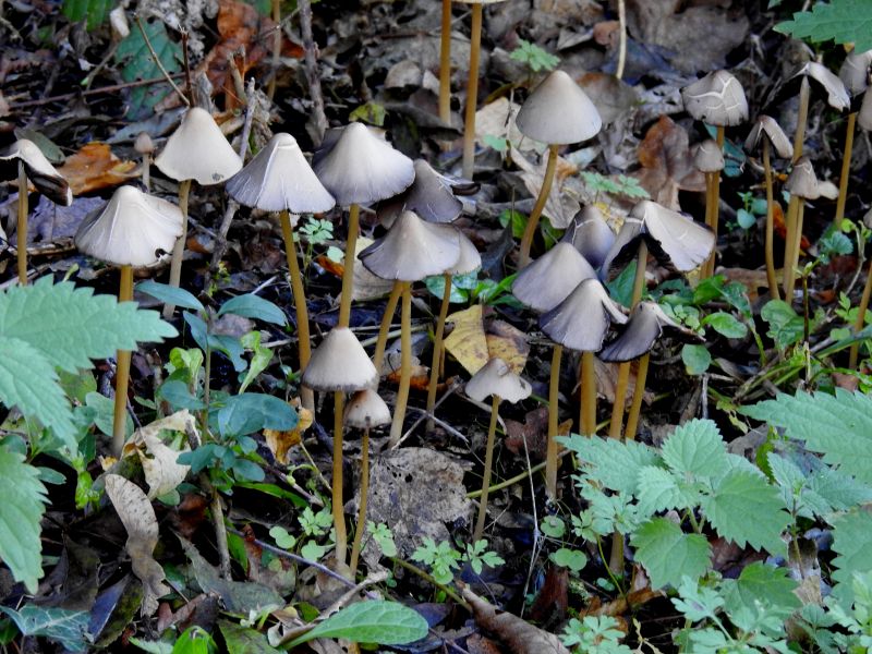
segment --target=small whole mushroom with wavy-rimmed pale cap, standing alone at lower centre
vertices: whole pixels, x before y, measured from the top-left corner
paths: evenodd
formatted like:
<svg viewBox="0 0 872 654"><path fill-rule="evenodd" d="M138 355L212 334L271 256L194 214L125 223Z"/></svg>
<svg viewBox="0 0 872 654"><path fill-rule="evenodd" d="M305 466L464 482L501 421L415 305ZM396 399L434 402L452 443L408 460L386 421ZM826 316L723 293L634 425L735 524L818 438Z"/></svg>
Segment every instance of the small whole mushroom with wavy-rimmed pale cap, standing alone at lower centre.
<svg viewBox="0 0 872 654"><path fill-rule="evenodd" d="M487 429L485 446L484 474L482 475L482 496L479 498L479 517L472 542L476 543L484 533L484 521L487 516L487 495L491 492L491 470L494 464L494 437L497 433L499 403L507 400L512 404L530 397L533 389L530 383L512 372L511 366L501 359L491 359L472 378L467 382L467 395L476 402L483 402L491 396L491 426Z"/></svg>

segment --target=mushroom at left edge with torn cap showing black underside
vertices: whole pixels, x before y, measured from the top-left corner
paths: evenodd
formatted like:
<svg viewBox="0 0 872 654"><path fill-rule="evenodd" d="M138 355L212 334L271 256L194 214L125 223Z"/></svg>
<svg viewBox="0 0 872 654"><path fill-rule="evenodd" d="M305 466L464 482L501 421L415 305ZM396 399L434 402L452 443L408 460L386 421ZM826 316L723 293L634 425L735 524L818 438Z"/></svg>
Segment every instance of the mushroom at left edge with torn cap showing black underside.
<svg viewBox="0 0 872 654"><path fill-rule="evenodd" d="M27 138L13 143L0 155L0 179L19 178L19 223L16 228L16 257L19 283L27 283L27 180L38 193L55 204L69 207L73 204L73 192L63 175L46 159L39 147Z"/></svg>

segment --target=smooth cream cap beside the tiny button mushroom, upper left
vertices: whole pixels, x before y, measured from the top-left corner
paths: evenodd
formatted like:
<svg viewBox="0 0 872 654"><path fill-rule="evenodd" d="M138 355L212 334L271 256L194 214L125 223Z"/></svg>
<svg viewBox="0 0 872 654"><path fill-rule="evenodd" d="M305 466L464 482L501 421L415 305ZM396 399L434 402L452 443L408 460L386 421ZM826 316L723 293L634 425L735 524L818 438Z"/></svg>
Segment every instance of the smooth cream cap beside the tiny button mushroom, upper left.
<svg viewBox="0 0 872 654"><path fill-rule="evenodd" d="M242 159L227 142L211 113L192 107L155 158L155 166L178 182L194 180L209 186L239 172Z"/></svg>

